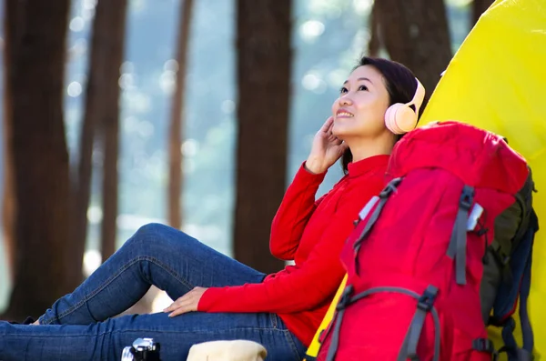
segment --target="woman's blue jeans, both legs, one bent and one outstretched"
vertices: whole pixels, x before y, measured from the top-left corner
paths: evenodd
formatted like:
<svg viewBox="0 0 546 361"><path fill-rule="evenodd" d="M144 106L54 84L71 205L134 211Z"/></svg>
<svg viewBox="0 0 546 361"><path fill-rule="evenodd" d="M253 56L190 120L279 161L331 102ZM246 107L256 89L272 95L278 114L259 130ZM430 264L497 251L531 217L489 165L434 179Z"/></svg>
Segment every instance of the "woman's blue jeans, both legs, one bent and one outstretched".
<svg viewBox="0 0 546 361"><path fill-rule="evenodd" d="M262 344L268 361L300 360L305 346L275 314L109 318L133 306L151 285L177 299L194 286L238 286L264 277L174 228L143 226L72 294L57 300L40 317L41 326L0 322L0 360L117 361L138 337L157 340L162 361L185 361L197 343L233 339Z"/></svg>

